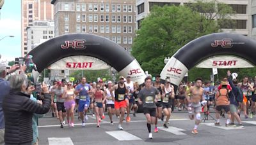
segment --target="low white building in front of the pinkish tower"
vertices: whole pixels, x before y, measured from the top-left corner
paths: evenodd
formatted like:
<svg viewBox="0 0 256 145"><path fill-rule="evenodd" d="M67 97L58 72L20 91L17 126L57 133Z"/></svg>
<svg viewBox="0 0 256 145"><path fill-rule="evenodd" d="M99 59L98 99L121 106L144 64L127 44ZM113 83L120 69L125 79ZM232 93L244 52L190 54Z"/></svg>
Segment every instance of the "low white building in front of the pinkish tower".
<svg viewBox="0 0 256 145"><path fill-rule="evenodd" d="M33 48L54 38L54 21L34 21L33 25L28 26L27 48L30 52Z"/></svg>

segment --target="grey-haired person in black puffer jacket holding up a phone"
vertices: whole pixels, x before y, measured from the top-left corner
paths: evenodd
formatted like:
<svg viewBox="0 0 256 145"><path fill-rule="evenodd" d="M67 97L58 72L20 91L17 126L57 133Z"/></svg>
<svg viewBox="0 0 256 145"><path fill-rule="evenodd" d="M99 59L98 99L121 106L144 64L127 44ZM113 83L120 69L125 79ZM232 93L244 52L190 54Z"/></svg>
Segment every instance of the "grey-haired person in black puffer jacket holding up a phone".
<svg viewBox="0 0 256 145"><path fill-rule="evenodd" d="M34 86L28 87L24 73L10 76L10 93L4 97L5 144L31 144L33 141L33 113L45 114L51 106L51 95L46 85L42 87L43 104L30 99Z"/></svg>

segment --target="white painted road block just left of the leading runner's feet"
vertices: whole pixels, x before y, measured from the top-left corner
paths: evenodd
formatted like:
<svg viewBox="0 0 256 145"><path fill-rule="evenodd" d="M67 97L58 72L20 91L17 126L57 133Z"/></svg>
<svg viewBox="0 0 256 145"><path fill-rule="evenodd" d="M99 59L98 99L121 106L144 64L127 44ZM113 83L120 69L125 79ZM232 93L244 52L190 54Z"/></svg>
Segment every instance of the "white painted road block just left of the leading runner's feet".
<svg viewBox="0 0 256 145"><path fill-rule="evenodd" d="M125 131L113 131L113 132L106 132L107 134L111 135L118 139L118 141L132 141L132 140L141 140L141 138L136 137L135 135L129 134Z"/></svg>

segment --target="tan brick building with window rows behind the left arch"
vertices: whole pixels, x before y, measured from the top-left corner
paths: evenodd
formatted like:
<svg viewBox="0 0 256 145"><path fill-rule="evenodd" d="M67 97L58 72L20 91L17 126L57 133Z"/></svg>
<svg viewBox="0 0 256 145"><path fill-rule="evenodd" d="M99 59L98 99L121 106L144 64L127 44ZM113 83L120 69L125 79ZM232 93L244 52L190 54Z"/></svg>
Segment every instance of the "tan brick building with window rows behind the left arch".
<svg viewBox="0 0 256 145"><path fill-rule="evenodd" d="M52 0L55 35L91 33L131 51L135 36L135 0Z"/></svg>

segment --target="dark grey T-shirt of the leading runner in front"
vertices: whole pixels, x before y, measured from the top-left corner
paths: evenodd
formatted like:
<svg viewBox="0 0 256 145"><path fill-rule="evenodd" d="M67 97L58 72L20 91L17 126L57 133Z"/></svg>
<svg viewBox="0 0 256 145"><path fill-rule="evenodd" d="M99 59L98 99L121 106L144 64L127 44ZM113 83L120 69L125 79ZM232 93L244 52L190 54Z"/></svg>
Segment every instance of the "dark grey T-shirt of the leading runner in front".
<svg viewBox="0 0 256 145"><path fill-rule="evenodd" d="M143 107L156 108L156 104L154 101L158 93L159 90L157 90L157 88L154 86L151 86L150 89L143 88L142 90L140 90L138 97L143 102Z"/></svg>

